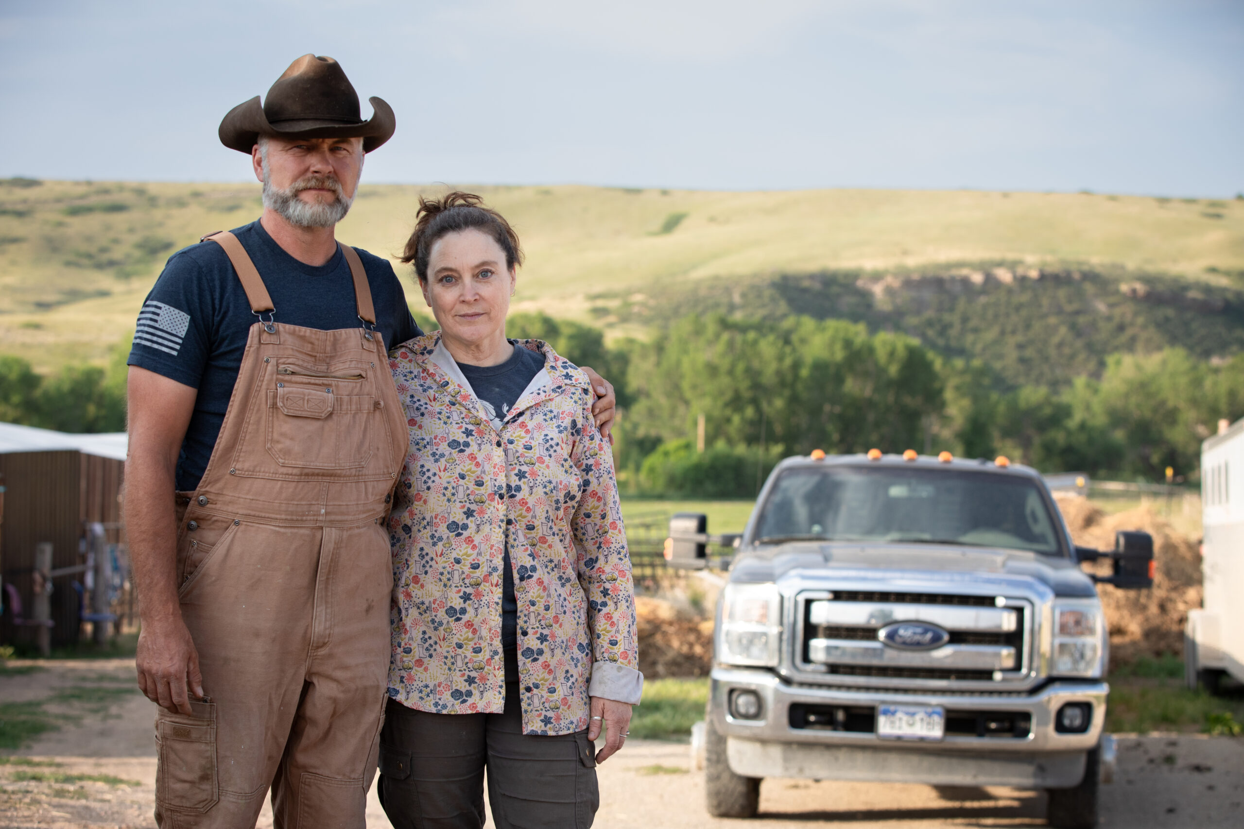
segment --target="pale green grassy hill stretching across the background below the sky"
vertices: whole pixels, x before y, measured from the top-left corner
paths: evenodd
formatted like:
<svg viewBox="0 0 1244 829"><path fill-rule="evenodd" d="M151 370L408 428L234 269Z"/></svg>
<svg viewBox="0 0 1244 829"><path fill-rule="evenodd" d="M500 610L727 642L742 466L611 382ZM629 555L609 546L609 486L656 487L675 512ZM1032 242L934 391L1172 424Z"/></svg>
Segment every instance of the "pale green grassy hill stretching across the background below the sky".
<svg viewBox="0 0 1244 829"><path fill-rule="evenodd" d="M443 189L366 185L338 236L396 260L418 194ZM471 189L522 236L515 309L613 333L715 307L846 316L978 353L998 341L978 331L983 316L1028 314L1014 334L1040 338L1028 318L1040 311L1080 314L1071 353L1084 348L1077 336L1095 353L1186 344L1174 331L1184 328L1204 341L1198 353L1244 349L1244 200ZM0 353L40 370L102 360L172 251L259 211L258 184L0 181ZM417 298L409 270L397 270ZM1059 354L1023 359L1040 369Z"/></svg>

